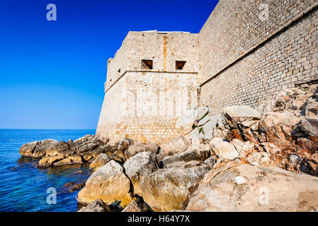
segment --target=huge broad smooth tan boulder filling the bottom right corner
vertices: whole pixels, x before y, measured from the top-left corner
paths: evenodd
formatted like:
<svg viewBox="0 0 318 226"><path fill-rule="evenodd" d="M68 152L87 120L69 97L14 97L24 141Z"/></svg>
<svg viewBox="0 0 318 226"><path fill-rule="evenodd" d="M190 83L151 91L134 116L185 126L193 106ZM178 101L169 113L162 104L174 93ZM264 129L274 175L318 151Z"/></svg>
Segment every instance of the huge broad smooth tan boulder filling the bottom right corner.
<svg viewBox="0 0 318 226"><path fill-rule="evenodd" d="M215 170L214 170L215 171ZM235 177L246 183L237 184ZM318 179L276 167L240 165L208 172L187 211L317 211Z"/></svg>

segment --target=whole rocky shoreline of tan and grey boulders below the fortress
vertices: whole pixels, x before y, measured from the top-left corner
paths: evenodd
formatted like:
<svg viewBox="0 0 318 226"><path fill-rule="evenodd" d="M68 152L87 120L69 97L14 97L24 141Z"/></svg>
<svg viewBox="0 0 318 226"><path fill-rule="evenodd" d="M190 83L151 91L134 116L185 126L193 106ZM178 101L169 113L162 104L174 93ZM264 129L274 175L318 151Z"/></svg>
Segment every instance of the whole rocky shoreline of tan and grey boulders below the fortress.
<svg viewBox="0 0 318 226"><path fill-rule="evenodd" d="M168 143L76 141L22 145L38 167L89 163L79 211L317 211L318 88L278 93L256 109L188 109Z"/></svg>

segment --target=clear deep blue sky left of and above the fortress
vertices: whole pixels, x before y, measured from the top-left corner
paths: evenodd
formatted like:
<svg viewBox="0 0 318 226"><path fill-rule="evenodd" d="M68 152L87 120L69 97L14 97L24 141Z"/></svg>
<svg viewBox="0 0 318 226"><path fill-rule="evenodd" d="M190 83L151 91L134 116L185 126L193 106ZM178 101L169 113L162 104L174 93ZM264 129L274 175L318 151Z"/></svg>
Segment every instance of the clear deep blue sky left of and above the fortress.
<svg viewBox="0 0 318 226"><path fill-rule="evenodd" d="M47 4L57 21L47 21ZM199 32L217 1L0 0L0 128L96 129L129 30Z"/></svg>

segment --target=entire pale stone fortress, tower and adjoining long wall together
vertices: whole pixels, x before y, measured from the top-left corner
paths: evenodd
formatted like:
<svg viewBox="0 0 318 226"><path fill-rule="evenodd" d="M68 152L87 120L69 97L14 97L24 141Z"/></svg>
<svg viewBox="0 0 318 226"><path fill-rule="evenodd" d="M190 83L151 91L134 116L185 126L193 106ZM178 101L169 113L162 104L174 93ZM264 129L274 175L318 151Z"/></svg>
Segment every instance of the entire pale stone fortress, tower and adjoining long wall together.
<svg viewBox="0 0 318 226"><path fill-rule="evenodd" d="M199 34L129 32L108 60L96 135L119 141L174 138L185 109L256 107L318 80L318 3L220 0ZM152 60L152 69L141 61ZM176 61L186 61L176 69Z"/></svg>

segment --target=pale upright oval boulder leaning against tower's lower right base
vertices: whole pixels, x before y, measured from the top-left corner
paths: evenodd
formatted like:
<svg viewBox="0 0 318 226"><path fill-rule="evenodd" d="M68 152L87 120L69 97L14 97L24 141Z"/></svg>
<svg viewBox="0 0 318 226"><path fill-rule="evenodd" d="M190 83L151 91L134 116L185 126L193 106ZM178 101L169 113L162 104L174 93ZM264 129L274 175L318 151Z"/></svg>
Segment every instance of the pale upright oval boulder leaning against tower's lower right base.
<svg viewBox="0 0 318 226"><path fill-rule="evenodd" d="M182 135L186 135L192 131L195 119L195 109L188 109L184 111L176 120L176 131Z"/></svg>

